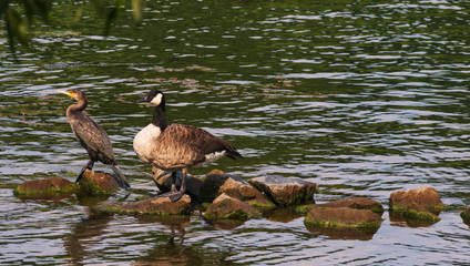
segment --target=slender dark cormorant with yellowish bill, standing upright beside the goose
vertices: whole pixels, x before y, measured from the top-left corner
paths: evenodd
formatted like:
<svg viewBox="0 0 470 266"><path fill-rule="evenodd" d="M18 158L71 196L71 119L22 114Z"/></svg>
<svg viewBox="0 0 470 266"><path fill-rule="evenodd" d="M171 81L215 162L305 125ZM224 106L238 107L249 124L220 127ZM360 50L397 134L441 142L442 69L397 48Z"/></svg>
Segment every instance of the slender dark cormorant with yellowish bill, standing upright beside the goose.
<svg viewBox="0 0 470 266"><path fill-rule="evenodd" d="M131 187L124 174L116 165L113 147L111 146L110 137L106 132L103 127L96 124L96 122L82 112L88 105L86 94L79 90L57 91L78 101L76 104L72 104L67 109L67 120L69 120L70 126L72 127L76 140L86 150L90 156L90 161L80 171L75 182L80 181L86 168L93 168L94 163L100 161L110 165L114 174L117 176L121 186L126 190Z"/></svg>

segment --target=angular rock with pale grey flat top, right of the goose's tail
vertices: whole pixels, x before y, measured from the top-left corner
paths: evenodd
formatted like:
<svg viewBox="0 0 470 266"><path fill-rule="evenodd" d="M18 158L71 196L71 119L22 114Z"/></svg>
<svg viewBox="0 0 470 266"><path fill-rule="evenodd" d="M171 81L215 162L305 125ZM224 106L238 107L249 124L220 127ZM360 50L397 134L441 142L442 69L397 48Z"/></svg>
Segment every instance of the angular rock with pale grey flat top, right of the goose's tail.
<svg viewBox="0 0 470 266"><path fill-rule="evenodd" d="M314 200L317 185L298 177L262 176L252 178L249 184L265 193L275 204L289 206Z"/></svg>

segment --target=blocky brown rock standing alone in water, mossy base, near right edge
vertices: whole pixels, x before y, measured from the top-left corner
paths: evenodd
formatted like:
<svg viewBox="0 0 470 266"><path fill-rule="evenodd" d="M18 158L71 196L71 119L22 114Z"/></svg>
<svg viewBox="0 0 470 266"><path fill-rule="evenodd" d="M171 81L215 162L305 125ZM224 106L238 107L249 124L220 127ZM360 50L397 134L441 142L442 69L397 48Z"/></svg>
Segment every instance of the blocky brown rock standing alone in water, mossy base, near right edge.
<svg viewBox="0 0 470 266"><path fill-rule="evenodd" d="M445 208L438 192L430 186L394 192L389 201L391 211L406 218L439 222L439 213Z"/></svg>

